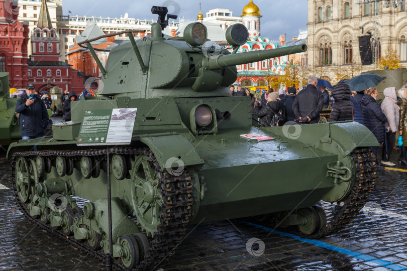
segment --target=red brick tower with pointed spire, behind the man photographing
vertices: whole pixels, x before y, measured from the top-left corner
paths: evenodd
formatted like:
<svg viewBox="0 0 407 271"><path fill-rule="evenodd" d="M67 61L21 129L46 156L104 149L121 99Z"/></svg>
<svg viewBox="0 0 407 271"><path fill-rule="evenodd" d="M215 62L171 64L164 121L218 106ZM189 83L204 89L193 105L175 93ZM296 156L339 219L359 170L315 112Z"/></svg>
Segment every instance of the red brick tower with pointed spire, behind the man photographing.
<svg viewBox="0 0 407 271"><path fill-rule="evenodd" d="M28 80L39 92L58 86L79 93L84 88L83 76L61 61L59 36L52 27L47 2L42 1L37 28L31 37L32 55Z"/></svg>

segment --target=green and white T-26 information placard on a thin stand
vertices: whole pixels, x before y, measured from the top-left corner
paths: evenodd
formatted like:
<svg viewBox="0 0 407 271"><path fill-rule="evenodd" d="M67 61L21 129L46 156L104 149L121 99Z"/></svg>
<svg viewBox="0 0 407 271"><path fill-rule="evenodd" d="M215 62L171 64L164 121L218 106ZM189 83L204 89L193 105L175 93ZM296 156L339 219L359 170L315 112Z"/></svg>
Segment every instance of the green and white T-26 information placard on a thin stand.
<svg viewBox="0 0 407 271"><path fill-rule="evenodd" d="M77 145L126 145L132 140L137 108L87 110Z"/></svg>

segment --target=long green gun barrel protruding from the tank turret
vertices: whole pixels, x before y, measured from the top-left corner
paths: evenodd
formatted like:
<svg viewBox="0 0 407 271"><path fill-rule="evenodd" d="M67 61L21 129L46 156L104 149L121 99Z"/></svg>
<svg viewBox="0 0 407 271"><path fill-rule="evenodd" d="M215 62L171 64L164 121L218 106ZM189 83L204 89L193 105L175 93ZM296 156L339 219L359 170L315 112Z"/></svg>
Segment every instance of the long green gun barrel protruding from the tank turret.
<svg viewBox="0 0 407 271"><path fill-rule="evenodd" d="M229 66L242 65L257 61L263 61L269 58L286 56L307 51L306 44L268 49L261 51L244 52L239 54L221 55L217 58L210 58L208 68L211 70L222 69Z"/></svg>

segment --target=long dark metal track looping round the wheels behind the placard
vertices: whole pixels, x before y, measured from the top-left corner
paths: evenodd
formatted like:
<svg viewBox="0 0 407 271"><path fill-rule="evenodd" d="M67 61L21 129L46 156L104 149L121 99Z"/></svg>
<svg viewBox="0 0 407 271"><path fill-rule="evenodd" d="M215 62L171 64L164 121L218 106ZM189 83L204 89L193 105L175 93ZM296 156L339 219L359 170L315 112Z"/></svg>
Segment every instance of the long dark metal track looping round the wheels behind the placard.
<svg viewBox="0 0 407 271"><path fill-rule="evenodd" d="M54 230L49 225L43 224L39 219L36 219L30 215L30 211L27 208L27 204L20 201L15 181L15 165L18 157L26 157L33 159L36 156L51 157L57 156L69 157L70 159L79 159L81 156L98 156L105 157L107 150L85 150L85 151L30 151L30 152L18 152L13 155L12 163L12 182L13 189L16 197L17 204L25 214L25 216L34 224L40 228L54 234L55 236L67 241L70 245L80 249L81 251L89 254L90 256L105 262L105 253L103 250L95 251L75 240L75 238L66 236L59 230ZM154 164L155 169L158 172L160 178L160 185L163 196L162 210L163 214L160 217L160 224L158 225L158 231L154 233L154 237L150 241L150 249L145 255L140 264L133 270L151 270L156 265L167 259L169 256L175 253L175 249L185 233L186 226L189 222L189 218L192 215L191 205L194 200L193 197L188 198L187 194L192 193L193 186L191 183L191 175L184 170L180 176L171 176L166 172L163 172L160 168L154 154L145 148L112 148L109 149L109 154L121 154L121 155L145 155ZM168 185L169 184L169 185ZM170 199L168 201L168 199ZM168 211L169 210L169 211ZM168 222L166 222L168 221ZM113 262L113 267L125 269L125 266L119 260Z"/></svg>

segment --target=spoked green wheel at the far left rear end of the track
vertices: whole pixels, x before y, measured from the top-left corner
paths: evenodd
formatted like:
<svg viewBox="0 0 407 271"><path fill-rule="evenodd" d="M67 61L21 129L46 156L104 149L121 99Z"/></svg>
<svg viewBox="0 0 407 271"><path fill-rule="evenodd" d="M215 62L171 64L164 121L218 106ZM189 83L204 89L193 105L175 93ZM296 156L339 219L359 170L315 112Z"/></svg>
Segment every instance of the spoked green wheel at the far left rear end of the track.
<svg viewBox="0 0 407 271"><path fill-rule="evenodd" d="M27 202L31 192L31 177L27 159L17 158L16 161L16 187L21 202Z"/></svg>

